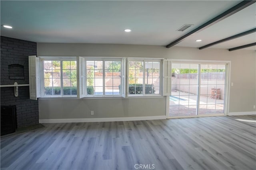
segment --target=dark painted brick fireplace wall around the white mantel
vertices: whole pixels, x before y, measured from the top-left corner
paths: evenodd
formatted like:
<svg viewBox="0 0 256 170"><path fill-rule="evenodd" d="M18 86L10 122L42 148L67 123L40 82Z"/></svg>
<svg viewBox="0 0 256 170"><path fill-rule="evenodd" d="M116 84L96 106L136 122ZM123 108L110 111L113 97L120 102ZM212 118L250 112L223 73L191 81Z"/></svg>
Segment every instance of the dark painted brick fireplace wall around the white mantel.
<svg viewBox="0 0 256 170"><path fill-rule="evenodd" d="M1 36L1 85L29 84L28 56L36 55L36 43ZM38 124L38 101L29 99L29 86L1 87L1 106L16 105L18 127Z"/></svg>

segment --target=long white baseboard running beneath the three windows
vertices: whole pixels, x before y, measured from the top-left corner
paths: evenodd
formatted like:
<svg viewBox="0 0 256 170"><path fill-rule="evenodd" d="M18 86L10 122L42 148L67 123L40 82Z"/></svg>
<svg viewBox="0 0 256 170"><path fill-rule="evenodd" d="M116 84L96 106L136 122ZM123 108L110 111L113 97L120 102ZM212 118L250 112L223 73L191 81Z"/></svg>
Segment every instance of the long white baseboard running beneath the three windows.
<svg viewBox="0 0 256 170"><path fill-rule="evenodd" d="M109 118L83 118L83 119L39 119L39 123L78 123L78 122L102 122L102 121L138 121L138 120L157 120L166 119L163 116L145 117L109 117Z"/></svg>

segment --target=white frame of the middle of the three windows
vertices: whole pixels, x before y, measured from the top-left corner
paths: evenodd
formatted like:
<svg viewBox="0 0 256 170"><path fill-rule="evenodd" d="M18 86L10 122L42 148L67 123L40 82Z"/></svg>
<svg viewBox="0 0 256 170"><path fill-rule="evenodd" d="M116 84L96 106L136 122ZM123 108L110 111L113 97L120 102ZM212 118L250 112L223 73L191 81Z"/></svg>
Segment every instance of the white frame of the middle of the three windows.
<svg viewBox="0 0 256 170"><path fill-rule="evenodd" d="M81 94L81 88L80 86L79 89L79 98L125 98L126 97L126 57L79 57L79 61L82 61L84 59L84 63L81 64L79 63L79 67L84 67L84 70L81 68L78 68L79 71L83 71L84 74L79 73L79 81L82 80L81 76L84 75L84 95ZM86 69L86 61L102 61L102 71L103 71L103 82L102 82L102 88L103 88L103 94L102 95L89 95L87 94L87 69ZM105 94L105 61L120 61L121 62L121 75L120 75L120 84L121 84L121 89L120 89L120 94L116 95L106 95ZM80 84L81 82L79 82Z"/></svg>

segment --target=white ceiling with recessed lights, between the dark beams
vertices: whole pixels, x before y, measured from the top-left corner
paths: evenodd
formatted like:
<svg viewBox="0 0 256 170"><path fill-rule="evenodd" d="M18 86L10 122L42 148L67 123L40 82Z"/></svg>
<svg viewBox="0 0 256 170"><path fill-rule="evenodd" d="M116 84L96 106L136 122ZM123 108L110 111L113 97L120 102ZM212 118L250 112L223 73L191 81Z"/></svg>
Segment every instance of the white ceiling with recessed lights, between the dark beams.
<svg viewBox="0 0 256 170"><path fill-rule="evenodd" d="M44 43L168 45L241 1L4 1L1 35ZM256 27L256 3L175 46L201 47ZM193 24L183 32L184 24ZM130 28L130 33L124 29ZM202 39L196 43L196 39ZM256 33L211 48L256 41ZM255 50L256 47L246 49Z"/></svg>

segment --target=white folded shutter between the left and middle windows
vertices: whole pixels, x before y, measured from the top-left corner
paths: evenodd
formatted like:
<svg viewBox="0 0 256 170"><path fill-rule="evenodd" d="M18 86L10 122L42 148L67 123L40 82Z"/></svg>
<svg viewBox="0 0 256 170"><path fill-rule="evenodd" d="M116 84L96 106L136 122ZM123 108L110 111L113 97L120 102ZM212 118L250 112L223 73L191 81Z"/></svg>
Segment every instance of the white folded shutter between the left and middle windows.
<svg viewBox="0 0 256 170"><path fill-rule="evenodd" d="M87 94L85 84L85 59L79 57L79 96L78 98L84 98Z"/></svg>

